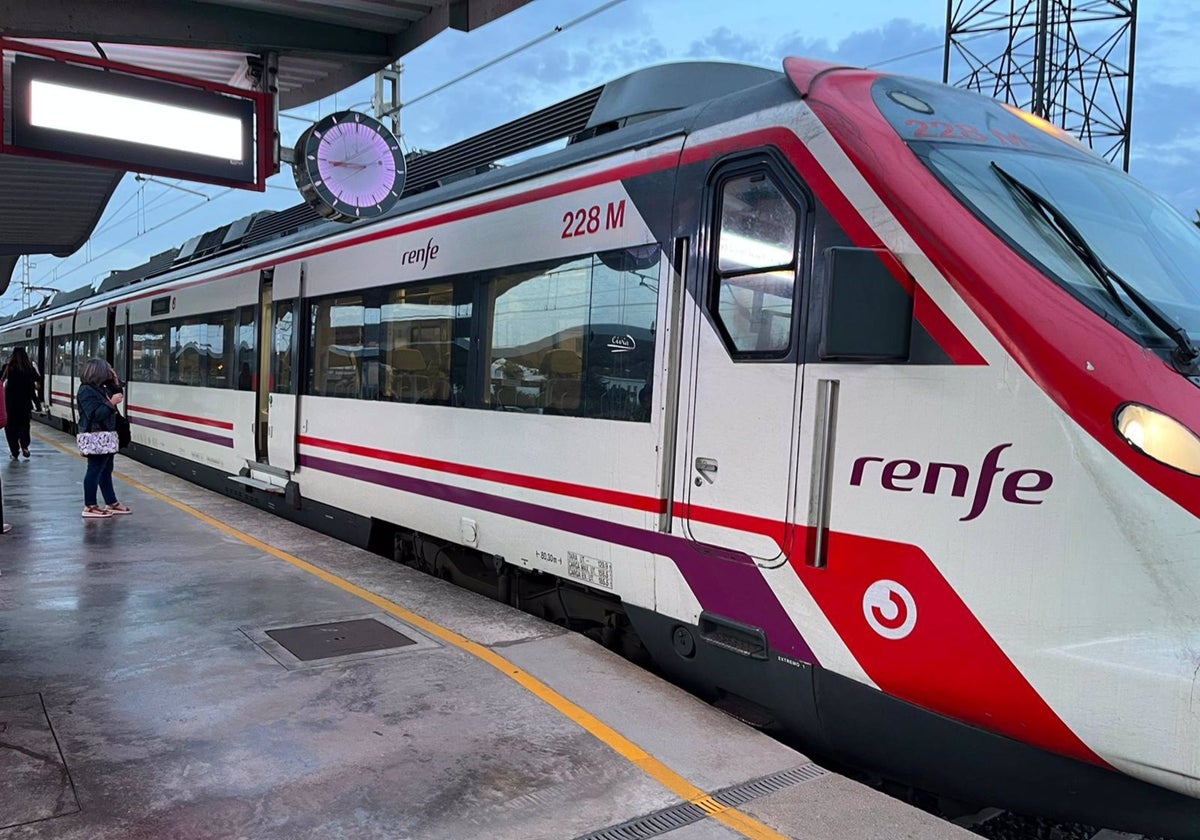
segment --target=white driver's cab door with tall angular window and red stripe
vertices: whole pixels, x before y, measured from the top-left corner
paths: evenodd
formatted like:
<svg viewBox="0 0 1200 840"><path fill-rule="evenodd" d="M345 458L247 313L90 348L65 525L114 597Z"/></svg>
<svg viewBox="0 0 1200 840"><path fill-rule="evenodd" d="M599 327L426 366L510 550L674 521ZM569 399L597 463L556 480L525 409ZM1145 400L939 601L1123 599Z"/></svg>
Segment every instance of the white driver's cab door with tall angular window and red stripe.
<svg viewBox="0 0 1200 840"><path fill-rule="evenodd" d="M767 155L715 169L686 307L683 526L701 547L781 562L794 521L806 200Z"/></svg>

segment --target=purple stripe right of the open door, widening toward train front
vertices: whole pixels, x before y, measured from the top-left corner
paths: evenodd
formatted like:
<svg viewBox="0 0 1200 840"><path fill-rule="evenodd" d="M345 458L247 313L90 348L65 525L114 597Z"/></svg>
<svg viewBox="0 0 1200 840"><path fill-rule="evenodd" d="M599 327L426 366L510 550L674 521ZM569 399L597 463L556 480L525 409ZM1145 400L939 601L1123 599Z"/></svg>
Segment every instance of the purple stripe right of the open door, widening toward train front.
<svg viewBox="0 0 1200 840"><path fill-rule="evenodd" d="M568 514L529 502L517 502L500 496L407 475L396 475L380 469L330 461L312 455L301 455L300 464L359 481L394 487L406 493L416 493L452 504L488 510L522 522L533 522L670 557L704 610L762 628L770 647L779 653L803 662L816 664L817 661L812 649L792 624L779 599L775 598L775 593L767 586L762 572L746 554L716 546L706 546L706 551L700 552L695 544L689 540L656 530L614 524L605 520Z"/></svg>

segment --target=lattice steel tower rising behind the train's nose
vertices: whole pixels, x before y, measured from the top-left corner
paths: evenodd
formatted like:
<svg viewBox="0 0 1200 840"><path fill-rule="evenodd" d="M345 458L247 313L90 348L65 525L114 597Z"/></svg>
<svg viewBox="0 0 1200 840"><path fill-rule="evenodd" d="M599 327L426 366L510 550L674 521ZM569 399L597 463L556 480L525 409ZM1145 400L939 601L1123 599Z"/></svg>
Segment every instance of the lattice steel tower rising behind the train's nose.
<svg viewBox="0 0 1200 840"><path fill-rule="evenodd" d="M942 80L1033 112L1129 169L1138 0L948 0Z"/></svg>

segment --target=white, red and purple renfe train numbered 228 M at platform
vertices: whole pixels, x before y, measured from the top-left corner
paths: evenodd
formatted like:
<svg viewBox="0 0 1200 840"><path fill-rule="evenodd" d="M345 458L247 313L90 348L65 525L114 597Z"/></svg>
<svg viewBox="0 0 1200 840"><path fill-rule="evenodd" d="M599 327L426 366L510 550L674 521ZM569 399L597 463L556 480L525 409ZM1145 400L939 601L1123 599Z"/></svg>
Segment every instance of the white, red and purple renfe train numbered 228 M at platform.
<svg viewBox="0 0 1200 840"><path fill-rule="evenodd" d="M1200 232L1063 131L647 67L0 323L127 454L812 755L1200 838Z"/></svg>

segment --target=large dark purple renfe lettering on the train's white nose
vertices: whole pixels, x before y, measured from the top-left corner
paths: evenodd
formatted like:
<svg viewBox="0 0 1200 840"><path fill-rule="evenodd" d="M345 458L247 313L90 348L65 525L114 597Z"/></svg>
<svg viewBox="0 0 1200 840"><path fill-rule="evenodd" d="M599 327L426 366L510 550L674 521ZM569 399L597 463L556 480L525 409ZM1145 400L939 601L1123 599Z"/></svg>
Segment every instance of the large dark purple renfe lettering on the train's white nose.
<svg viewBox="0 0 1200 840"><path fill-rule="evenodd" d="M992 484L995 484L996 476L1004 472L1004 467L1000 466L1000 454L1012 445L1010 443L998 444L983 456L983 463L976 476L971 510L959 522L970 522L988 506ZM854 461L854 467L850 472L851 486L862 486L868 464L871 463L883 464L880 467L880 486L883 490L894 490L900 493L910 493L919 487L922 493L934 496L938 492L940 485L943 485L943 476L947 476L944 484L949 485L950 496L962 498L967 494L967 486L971 482L971 470L961 463L931 461L923 464L910 458L886 461L880 457L864 456ZM874 468L871 472L874 473ZM1043 499L1032 497L1050 490L1051 484L1054 484L1054 476L1044 469L1014 469L1004 476L1001 498L1010 504L1042 504Z"/></svg>

